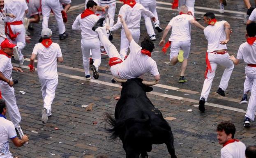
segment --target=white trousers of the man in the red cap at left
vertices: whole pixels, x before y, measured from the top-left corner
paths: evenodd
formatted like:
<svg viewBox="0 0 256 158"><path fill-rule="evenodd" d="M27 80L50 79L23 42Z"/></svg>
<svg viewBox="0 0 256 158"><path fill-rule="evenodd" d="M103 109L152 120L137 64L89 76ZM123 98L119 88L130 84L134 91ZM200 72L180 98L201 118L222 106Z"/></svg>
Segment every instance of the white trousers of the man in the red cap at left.
<svg viewBox="0 0 256 158"><path fill-rule="evenodd" d="M0 84L0 89L2 93L2 98L5 99L9 117L16 128L21 122L21 114L16 104L14 88L10 87L8 84Z"/></svg>

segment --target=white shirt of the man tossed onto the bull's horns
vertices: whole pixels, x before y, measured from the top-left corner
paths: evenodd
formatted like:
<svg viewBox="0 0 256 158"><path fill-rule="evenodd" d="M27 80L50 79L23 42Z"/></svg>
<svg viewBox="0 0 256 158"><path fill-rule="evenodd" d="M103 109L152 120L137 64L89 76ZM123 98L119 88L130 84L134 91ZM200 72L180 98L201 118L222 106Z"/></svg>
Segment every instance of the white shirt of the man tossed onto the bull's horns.
<svg viewBox="0 0 256 158"><path fill-rule="evenodd" d="M141 47L134 40L129 46L131 52L124 62L119 64L118 74L122 79L137 78L144 73L159 75L157 63L148 55L141 53Z"/></svg>

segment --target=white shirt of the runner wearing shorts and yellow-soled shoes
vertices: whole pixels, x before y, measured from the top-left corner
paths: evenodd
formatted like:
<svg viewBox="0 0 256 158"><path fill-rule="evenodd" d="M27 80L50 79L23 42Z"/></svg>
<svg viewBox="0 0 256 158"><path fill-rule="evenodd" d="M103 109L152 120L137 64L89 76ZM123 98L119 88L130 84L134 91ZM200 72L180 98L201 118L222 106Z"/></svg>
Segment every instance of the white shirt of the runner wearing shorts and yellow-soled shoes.
<svg viewBox="0 0 256 158"><path fill-rule="evenodd" d="M172 26L171 37L169 41L190 41L190 20L194 20L194 17L188 14L181 14L171 19L168 25Z"/></svg>

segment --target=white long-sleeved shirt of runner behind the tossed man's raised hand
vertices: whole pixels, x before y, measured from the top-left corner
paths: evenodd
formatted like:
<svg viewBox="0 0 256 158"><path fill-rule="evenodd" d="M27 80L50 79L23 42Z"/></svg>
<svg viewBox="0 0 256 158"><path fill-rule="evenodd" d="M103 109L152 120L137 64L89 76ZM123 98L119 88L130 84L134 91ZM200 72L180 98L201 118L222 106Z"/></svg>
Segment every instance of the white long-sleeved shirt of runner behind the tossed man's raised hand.
<svg viewBox="0 0 256 158"><path fill-rule="evenodd" d="M140 28L141 27L141 13L146 14L146 16L153 18L155 17L154 14L145 9L143 5L136 3L134 7L130 7L129 5L123 5L119 10L119 15L122 15L125 19L125 23L127 24L127 27L130 28ZM115 25L110 27L110 31L118 30L122 26L122 23L120 21L120 18L118 18L118 21Z"/></svg>

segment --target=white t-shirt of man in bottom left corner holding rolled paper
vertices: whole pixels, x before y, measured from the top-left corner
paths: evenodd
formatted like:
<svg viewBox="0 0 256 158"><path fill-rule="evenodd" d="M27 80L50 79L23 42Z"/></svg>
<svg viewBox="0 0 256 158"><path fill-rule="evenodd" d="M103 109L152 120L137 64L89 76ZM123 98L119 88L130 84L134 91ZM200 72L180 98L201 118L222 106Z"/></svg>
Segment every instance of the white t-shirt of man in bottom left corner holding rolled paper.
<svg viewBox="0 0 256 158"><path fill-rule="evenodd" d="M11 157L12 153L9 151L9 139L17 137L14 124L0 115L0 158ZM3 155L2 155L3 154Z"/></svg>

